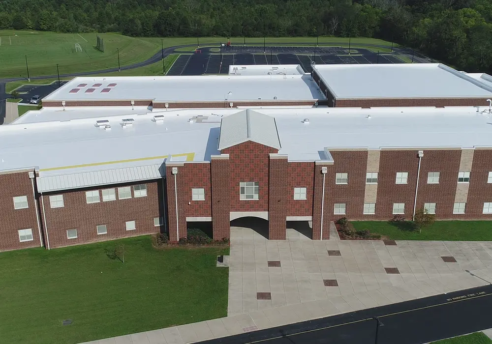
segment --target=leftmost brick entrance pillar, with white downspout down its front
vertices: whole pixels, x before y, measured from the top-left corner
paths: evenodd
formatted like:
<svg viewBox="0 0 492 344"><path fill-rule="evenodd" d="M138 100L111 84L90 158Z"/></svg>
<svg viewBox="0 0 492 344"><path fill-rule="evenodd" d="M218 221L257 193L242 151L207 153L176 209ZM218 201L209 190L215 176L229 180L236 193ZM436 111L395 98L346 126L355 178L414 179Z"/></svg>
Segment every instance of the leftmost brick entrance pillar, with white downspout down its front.
<svg viewBox="0 0 492 344"><path fill-rule="evenodd" d="M168 159L169 160L169 159ZM173 168L178 169L178 173L173 174ZM176 176L176 194L178 195L178 223L176 223L176 198L174 192L174 178ZM169 240L178 241L179 237L186 237L186 200L184 198L184 188L187 187L184 180L183 162L166 162L166 184L167 184L167 213Z"/></svg>

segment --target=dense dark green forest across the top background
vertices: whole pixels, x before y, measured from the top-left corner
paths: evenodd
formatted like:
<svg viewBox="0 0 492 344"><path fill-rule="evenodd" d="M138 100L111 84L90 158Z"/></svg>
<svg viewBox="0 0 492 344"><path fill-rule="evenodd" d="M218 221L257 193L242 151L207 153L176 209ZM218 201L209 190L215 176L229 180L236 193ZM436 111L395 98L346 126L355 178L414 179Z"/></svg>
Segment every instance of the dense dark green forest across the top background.
<svg viewBox="0 0 492 344"><path fill-rule="evenodd" d="M0 29L376 37L492 71L492 0L0 0Z"/></svg>

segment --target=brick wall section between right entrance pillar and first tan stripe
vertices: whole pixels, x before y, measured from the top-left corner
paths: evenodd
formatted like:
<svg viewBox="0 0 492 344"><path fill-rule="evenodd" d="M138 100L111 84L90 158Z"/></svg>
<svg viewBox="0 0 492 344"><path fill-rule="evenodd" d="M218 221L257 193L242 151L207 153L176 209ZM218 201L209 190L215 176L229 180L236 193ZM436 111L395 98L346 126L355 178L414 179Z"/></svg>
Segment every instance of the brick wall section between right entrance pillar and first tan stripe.
<svg viewBox="0 0 492 344"><path fill-rule="evenodd" d="M332 220L346 216L349 219L364 219L364 195L366 192L366 168L368 151L330 151L335 161L326 174L325 214ZM336 184L336 173L348 173L348 184ZM335 215L334 204L345 203L346 215Z"/></svg>

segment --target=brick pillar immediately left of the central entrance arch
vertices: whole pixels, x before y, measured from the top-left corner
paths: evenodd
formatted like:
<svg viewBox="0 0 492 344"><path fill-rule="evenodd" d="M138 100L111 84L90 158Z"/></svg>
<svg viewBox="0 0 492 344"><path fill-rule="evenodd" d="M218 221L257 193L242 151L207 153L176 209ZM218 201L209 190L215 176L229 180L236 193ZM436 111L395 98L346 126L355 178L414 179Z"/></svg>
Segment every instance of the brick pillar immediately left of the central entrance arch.
<svg viewBox="0 0 492 344"><path fill-rule="evenodd" d="M231 236L229 154L211 156L212 229L214 239Z"/></svg>

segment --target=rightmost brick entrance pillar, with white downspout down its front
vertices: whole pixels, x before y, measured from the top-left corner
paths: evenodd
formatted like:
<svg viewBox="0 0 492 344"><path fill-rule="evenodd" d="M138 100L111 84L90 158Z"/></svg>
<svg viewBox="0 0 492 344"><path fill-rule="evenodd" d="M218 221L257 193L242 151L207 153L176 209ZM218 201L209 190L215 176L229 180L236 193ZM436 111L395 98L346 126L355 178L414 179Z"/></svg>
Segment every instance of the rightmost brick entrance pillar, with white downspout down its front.
<svg viewBox="0 0 492 344"><path fill-rule="evenodd" d="M333 164L333 163L332 163ZM312 201L312 239L319 240L321 232L321 199L323 195L323 173L322 168L326 167L330 169L329 163L315 163L314 167L314 187L313 187L313 201ZM323 214L323 240L330 239L330 217L328 209L328 180L326 180L325 174L325 202L324 202L324 214Z"/></svg>

